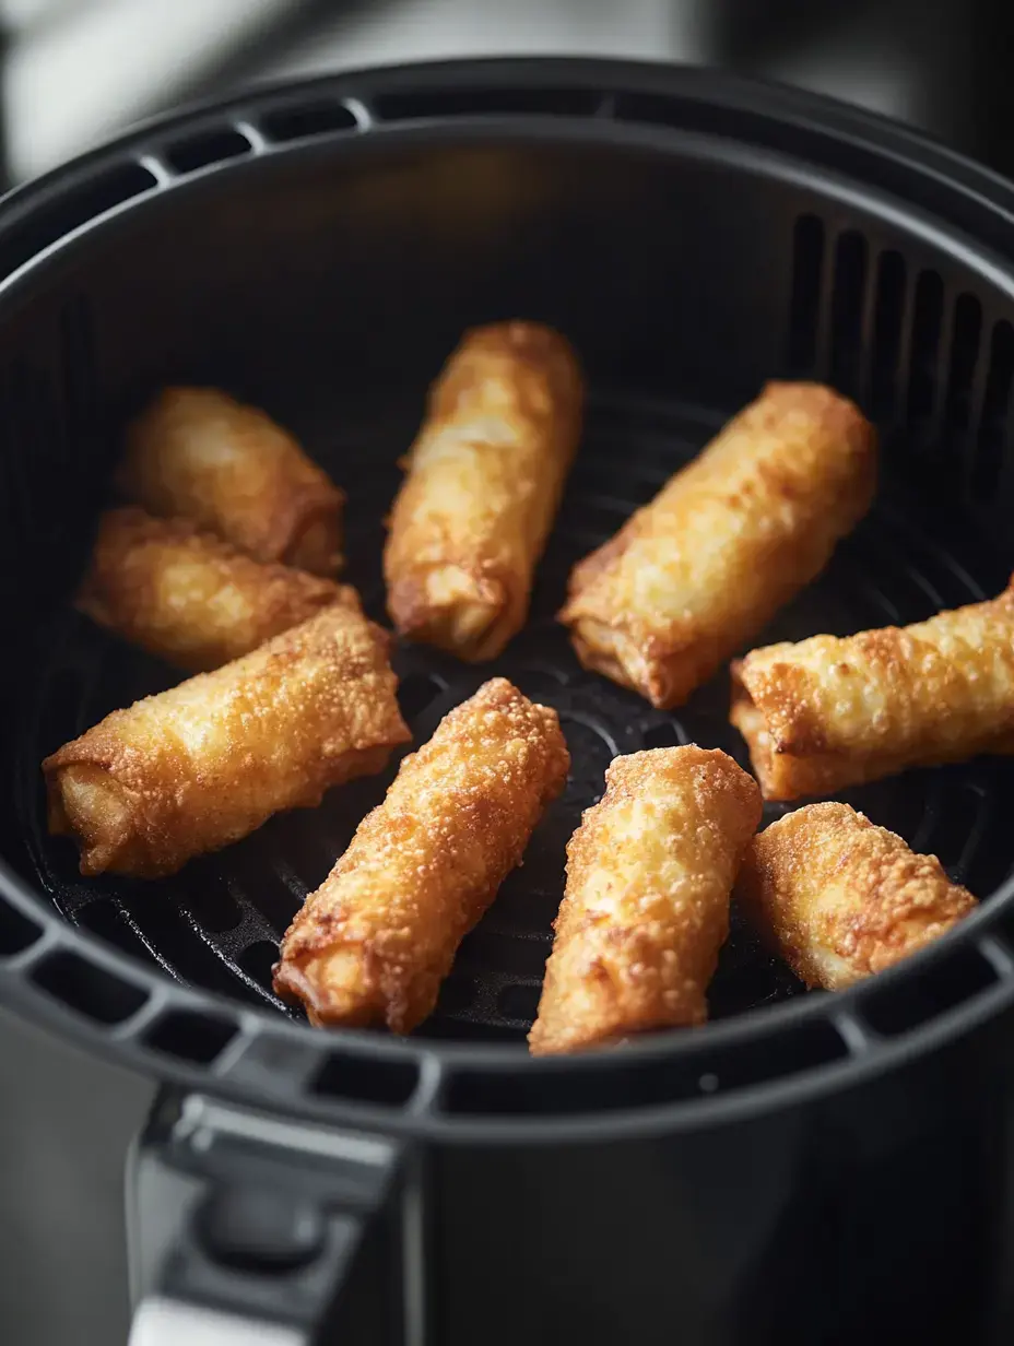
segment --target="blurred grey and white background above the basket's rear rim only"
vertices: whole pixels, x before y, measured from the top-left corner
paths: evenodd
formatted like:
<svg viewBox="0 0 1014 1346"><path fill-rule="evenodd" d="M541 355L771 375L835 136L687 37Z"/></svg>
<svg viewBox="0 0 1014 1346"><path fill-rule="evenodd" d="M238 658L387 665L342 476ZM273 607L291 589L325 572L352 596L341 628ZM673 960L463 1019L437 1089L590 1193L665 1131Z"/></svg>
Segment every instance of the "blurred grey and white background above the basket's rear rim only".
<svg viewBox="0 0 1014 1346"><path fill-rule="evenodd" d="M720 65L913 122L1006 167L1010 0L0 0L3 147L35 176L261 79L452 55Z"/></svg>

